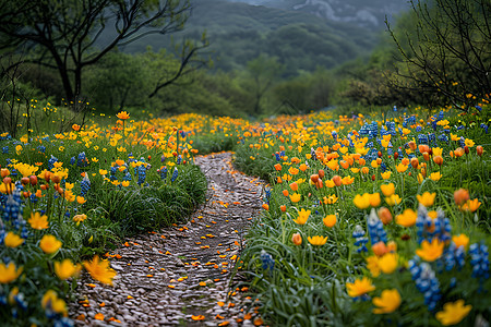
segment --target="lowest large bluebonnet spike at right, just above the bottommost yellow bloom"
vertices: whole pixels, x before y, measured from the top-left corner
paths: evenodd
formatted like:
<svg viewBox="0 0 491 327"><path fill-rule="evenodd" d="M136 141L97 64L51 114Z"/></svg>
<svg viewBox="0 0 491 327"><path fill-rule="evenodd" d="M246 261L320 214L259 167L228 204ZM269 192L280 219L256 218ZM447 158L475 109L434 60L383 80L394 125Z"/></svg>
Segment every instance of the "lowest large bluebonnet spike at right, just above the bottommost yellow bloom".
<svg viewBox="0 0 491 327"><path fill-rule="evenodd" d="M418 265L418 261L415 258L408 262L408 267L412 280L416 282L416 288L424 296L424 304L428 305L428 310L434 311L442 295L440 293L440 281L431 266L427 263Z"/></svg>

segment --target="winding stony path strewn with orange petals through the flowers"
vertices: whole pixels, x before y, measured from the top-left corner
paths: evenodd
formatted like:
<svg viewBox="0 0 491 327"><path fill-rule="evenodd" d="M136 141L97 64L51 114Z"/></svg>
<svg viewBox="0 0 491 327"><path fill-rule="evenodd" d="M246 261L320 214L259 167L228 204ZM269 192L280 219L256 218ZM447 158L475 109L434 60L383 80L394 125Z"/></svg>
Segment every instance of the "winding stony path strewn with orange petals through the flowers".
<svg viewBox="0 0 491 327"><path fill-rule="evenodd" d="M70 307L76 325L236 326L243 319L239 303L250 300L233 290L227 302L229 277L261 208L262 184L233 170L229 153L199 157L196 165L208 180L207 204L188 223L128 239L109 253L118 272L112 287L82 277L80 301ZM252 315L240 324L253 322Z"/></svg>

